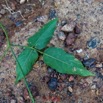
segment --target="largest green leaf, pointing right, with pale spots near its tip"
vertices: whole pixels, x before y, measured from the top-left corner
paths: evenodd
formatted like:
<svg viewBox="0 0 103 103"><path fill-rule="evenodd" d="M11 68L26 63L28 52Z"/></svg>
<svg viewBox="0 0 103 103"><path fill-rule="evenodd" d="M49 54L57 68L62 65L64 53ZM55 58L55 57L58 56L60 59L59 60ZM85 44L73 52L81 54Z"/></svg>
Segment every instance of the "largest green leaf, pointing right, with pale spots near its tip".
<svg viewBox="0 0 103 103"><path fill-rule="evenodd" d="M85 69L78 59L60 48L51 47L46 49L43 60L48 66L60 73L94 76L94 74Z"/></svg>

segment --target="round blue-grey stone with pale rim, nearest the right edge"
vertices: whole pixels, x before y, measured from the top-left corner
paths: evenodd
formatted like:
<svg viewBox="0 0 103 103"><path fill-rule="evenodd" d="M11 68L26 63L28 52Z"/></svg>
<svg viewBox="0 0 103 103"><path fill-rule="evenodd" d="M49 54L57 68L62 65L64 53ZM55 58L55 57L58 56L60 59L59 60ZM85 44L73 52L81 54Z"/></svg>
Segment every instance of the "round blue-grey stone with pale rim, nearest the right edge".
<svg viewBox="0 0 103 103"><path fill-rule="evenodd" d="M92 37L89 41L87 41L87 47L94 49L99 43L100 39L98 37Z"/></svg>

